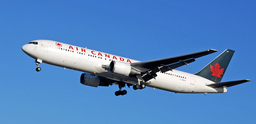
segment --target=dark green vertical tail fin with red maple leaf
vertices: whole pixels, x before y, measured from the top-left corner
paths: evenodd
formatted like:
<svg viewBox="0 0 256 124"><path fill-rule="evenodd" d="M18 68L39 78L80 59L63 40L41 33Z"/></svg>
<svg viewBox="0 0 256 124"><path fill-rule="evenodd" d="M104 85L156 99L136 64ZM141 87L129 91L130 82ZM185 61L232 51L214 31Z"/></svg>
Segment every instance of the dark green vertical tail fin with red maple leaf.
<svg viewBox="0 0 256 124"><path fill-rule="evenodd" d="M221 53L217 58L211 61L207 66L205 66L195 75L204 77L213 82L221 82L234 52L234 50L226 49L223 53Z"/></svg>

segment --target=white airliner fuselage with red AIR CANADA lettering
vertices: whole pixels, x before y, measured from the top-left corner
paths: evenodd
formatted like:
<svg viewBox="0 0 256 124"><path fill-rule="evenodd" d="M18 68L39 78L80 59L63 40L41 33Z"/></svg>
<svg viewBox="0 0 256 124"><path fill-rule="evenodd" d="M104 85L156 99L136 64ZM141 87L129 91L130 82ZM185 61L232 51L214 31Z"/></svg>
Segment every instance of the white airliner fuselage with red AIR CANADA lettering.
<svg viewBox="0 0 256 124"><path fill-rule="evenodd" d="M104 69L102 65L109 65L111 61L127 63L139 61L52 40L34 40L33 42L38 42L38 44L25 44L22 50L30 57L40 59L44 63L95 74L116 81L124 81L131 84L138 82L131 76L111 73ZM226 88L206 86L206 84L213 83L215 82L206 78L178 70L165 73L158 72L155 79L144 82L146 86L176 93L227 92Z"/></svg>

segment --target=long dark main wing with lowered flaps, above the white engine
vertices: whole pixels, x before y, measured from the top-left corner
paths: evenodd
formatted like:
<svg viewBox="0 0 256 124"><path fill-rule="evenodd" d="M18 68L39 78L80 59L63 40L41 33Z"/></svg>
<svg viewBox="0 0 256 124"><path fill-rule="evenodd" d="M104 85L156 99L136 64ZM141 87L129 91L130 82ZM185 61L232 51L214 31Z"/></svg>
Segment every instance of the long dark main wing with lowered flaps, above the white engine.
<svg viewBox="0 0 256 124"><path fill-rule="evenodd" d="M210 49L191 54L179 55L176 57L135 62L132 63L131 66L142 72L142 78L146 82L152 78L155 78L157 76L156 73L159 71L163 73L183 65L188 65L188 63L194 62L195 58L199 58L215 52L217 52L217 50Z"/></svg>

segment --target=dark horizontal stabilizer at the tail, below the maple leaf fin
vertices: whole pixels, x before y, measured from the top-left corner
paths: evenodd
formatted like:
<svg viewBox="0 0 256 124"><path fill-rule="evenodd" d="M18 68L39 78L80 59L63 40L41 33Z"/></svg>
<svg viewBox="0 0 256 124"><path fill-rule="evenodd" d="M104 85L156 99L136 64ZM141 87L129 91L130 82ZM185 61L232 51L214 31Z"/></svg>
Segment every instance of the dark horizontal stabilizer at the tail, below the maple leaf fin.
<svg viewBox="0 0 256 124"><path fill-rule="evenodd" d="M245 79L245 80L238 80L238 81L227 81L227 82L220 82L220 83L214 83L214 84L206 84L206 86L209 86L211 88L218 88L218 87L226 86L228 88L230 86L242 84L242 83L245 83L248 81L251 81L251 80Z"/></svg>

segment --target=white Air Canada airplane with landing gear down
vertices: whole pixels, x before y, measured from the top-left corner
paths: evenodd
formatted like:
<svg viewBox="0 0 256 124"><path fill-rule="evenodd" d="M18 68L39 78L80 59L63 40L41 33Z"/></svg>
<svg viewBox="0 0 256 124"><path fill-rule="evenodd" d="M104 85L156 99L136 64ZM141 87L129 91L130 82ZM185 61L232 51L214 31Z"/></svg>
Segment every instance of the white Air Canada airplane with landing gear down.
<svg viewBox="0 0 256 124"><path fill-rule="evenodd" d="M127 94L125 86L134 90L146 86L174 93L226 93L228 87L251 80L221 82L234 50L226 49L195 74L175 70L196 58L217 52L214 49L175 57L140 62L96 50L53 40L33 40L22 50L35 59L36 71L41 63L82 71L80 83L87 86L118 85L116 96Z"/></svg>

